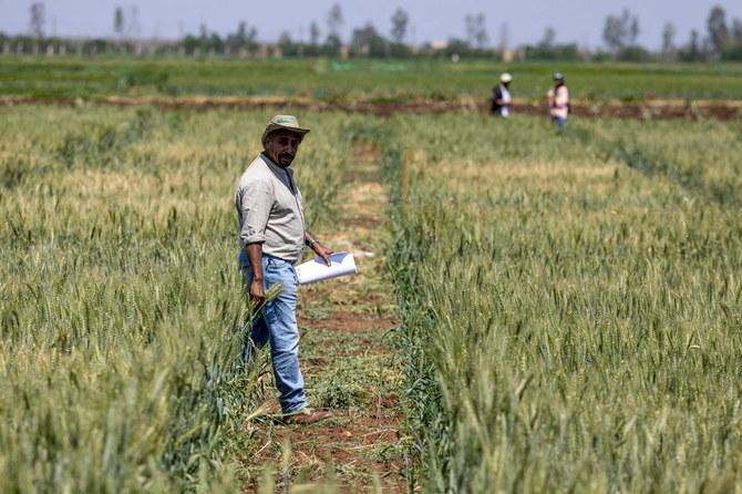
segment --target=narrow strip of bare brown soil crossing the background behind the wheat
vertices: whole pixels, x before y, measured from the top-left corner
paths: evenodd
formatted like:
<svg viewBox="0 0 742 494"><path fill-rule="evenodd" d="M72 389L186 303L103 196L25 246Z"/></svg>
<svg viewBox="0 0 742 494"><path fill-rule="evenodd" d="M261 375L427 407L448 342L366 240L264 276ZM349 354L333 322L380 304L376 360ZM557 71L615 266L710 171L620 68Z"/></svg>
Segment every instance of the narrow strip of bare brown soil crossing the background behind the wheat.
<svg viewBox="0 0 742 494"><path fill-rule="evenodd" d="M262 110L277 106L290 106L297 110L341 111L373 115L391 115L393 113L449 113L477 112L487 113L489 103L486 97L475 100L462 96L455 100L429 101L413 100L401 102L374 101L334 101L326 102L310 99L286 99L282 96L187 96L187 97L128 97L110 96L105 100L37 100L31 97L1 97L0 105L55 104L81 105L101 104L113 106L154 105L164 110L176 109L233 109ZM722 121L742 119L740 101L682 101L682 100L647 100L647 101L579 101L571 102L574 116L588 119L640 119L640 120L702 120L717 119ZM546 106L542 101L515 99L513 112L525 115L546 115Z"/></svg>

